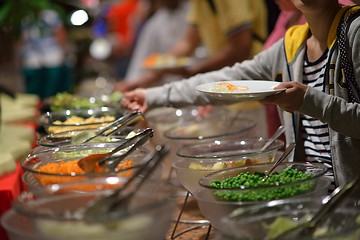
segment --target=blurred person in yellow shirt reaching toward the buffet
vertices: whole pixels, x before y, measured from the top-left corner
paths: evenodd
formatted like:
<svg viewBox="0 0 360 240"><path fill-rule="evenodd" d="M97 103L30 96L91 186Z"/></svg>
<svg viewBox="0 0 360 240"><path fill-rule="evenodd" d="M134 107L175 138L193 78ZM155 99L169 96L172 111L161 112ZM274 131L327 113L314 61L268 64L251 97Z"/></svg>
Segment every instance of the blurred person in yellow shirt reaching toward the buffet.
<svg viewBox="0 0 360 240"><path fill-rule="evenodd" d="M168 53L192 56L203 44L208 56L199 63L176 70L149 70L135 83L119 82L117 89L159 85L164 76L189 77L229 66L253 57L267 37L267 10L263 0L189 0L185 34Z"/></svg>

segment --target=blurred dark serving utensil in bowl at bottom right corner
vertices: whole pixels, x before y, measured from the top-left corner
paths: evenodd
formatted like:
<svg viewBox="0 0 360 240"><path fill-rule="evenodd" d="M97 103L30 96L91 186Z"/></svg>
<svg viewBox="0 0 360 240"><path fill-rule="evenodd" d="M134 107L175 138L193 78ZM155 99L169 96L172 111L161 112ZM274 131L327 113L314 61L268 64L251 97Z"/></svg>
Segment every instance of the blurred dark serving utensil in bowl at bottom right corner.
<svg viewBox="0 0 360 240"><path fill-rule="evenodd" d="M350 182L337 187L329 196L326 196L322 200L322 206L310 220L304 221L296 227L283 232L274 240L296 239L296 236L299 235L308 236L312 234L316 230L316 227L331 216L336 207L352 192L354 186L358 184L359 179L360 177L357 176Z"/></svg>

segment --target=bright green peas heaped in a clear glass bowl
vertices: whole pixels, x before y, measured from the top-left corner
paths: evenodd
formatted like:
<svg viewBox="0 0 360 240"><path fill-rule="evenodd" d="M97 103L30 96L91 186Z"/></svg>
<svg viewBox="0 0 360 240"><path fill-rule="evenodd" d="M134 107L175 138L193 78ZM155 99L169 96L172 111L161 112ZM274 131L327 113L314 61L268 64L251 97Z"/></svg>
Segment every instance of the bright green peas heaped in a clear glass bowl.
<svg viewBox="0 0 360 240"><path fill-rule="evenodd" d="M310 191L314 182L304 182L287 186L287 183L298 182L311 178L312 175L302 171L285 168L265 177L263 172L243 172L235 177L224 180L212 180L210 186L216 198L223 201L268 201L292 197ZM281 186L284 184L284 186ZM266 186L276 186L267 189ZM260 187L260 189L256 189ZM264 188L261 188L264 187ZM231 189L226 191L226 189ZM239 189L239 190L237 190Z"/></svg>

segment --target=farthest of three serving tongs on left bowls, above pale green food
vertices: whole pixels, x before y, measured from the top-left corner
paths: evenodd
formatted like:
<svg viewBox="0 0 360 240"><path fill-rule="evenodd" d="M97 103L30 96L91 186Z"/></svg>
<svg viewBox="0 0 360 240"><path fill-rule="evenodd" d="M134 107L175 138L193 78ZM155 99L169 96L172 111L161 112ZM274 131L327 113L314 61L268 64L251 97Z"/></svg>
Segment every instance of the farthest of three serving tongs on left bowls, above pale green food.
<svg viewBox="0 0 360 240"><path fill-rule="evenodd" d="M127 114L123 117L116 119L113 123L111 123L107 127L104 127L102 129L93 132L84 131L77 134L76 136L71 138L71 143L73 144L87 143L98 136L110 136L115 131L119 131L125 126L129 126L132 123L136 123L144 119L145 117L141 112L137 112L137 111L132 112L130 114Z"/></svg>

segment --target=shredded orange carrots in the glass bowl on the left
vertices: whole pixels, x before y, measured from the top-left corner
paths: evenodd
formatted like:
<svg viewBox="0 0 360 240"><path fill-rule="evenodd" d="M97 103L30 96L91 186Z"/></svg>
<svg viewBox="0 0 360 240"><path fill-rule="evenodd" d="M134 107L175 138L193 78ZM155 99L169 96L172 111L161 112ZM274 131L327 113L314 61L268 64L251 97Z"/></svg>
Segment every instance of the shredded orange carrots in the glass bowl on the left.
<svg viewBox="0 0 360 240"><path fill-rule="evenodd" d="M74 161L59 161L59 162L51 162L44 164L37 169L38 172L58 174L59 176L37 174L37 178L42 185L85 180L86 177L79 176L85 174L85 172L78 166L77 162L78 159ZM117 170L128 169L132 166L133 166L133 161L126 159L123 162L119 163L119 165L117 166ZM97 166L94 171L104 172L105 169L101 168L100 166ZM120 172L117 175L121 177L131 177L132 174L133 171L129 170L125 172ZM61 176L61 175L72 175L72 176Z"/></svg>

